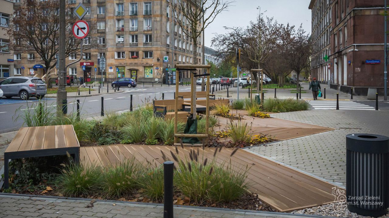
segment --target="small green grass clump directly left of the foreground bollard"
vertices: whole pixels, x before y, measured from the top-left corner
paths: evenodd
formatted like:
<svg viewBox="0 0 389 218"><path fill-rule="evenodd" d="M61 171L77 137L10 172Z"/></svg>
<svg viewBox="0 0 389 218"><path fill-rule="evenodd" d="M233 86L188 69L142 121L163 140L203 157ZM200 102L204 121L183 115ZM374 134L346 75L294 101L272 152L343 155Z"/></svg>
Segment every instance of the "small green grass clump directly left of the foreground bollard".
<svg viewBox="0 0 389 218"><path fill-rule="evenodd" d="M140 180L140 188L151 201L163 199L163 168L158 167L145 172Z"/></svg>

